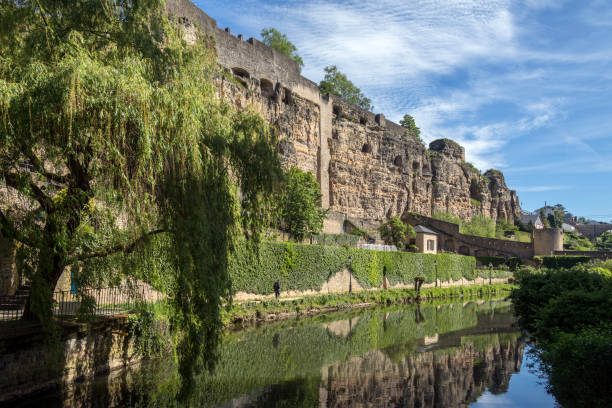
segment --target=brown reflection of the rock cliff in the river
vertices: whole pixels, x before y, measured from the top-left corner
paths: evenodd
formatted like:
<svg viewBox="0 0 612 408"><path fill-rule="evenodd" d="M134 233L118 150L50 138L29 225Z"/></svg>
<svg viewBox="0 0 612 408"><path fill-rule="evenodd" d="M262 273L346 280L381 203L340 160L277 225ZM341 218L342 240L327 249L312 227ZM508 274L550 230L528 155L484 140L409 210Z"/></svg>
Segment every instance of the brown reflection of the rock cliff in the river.
<svg viewBox="0 0 612 408"><path fill-rule="evenodd" d="M394 362L373 351L324 367L322 407L467 407L485 389L505 392L519 370L523 344L502 341L477 350L456 349L411 354Z"/></svg>

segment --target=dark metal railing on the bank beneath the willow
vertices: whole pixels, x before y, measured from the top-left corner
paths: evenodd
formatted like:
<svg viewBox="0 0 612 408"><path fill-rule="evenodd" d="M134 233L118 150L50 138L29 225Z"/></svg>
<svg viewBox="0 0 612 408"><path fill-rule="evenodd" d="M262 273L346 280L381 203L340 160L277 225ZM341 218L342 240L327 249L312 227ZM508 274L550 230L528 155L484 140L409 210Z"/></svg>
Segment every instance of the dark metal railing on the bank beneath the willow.
<svg viewBox="0 0 612 408"><path fill-rule="evenodd" d="M0 321L34 319L31 312L25 311L28 296L21 294L0 297ZM53 293L52 313L62 319L113 316L130 313L143 303L153 303L162 298L161 293L148 285L83 289L78 293L62 290Z"/></svg>

